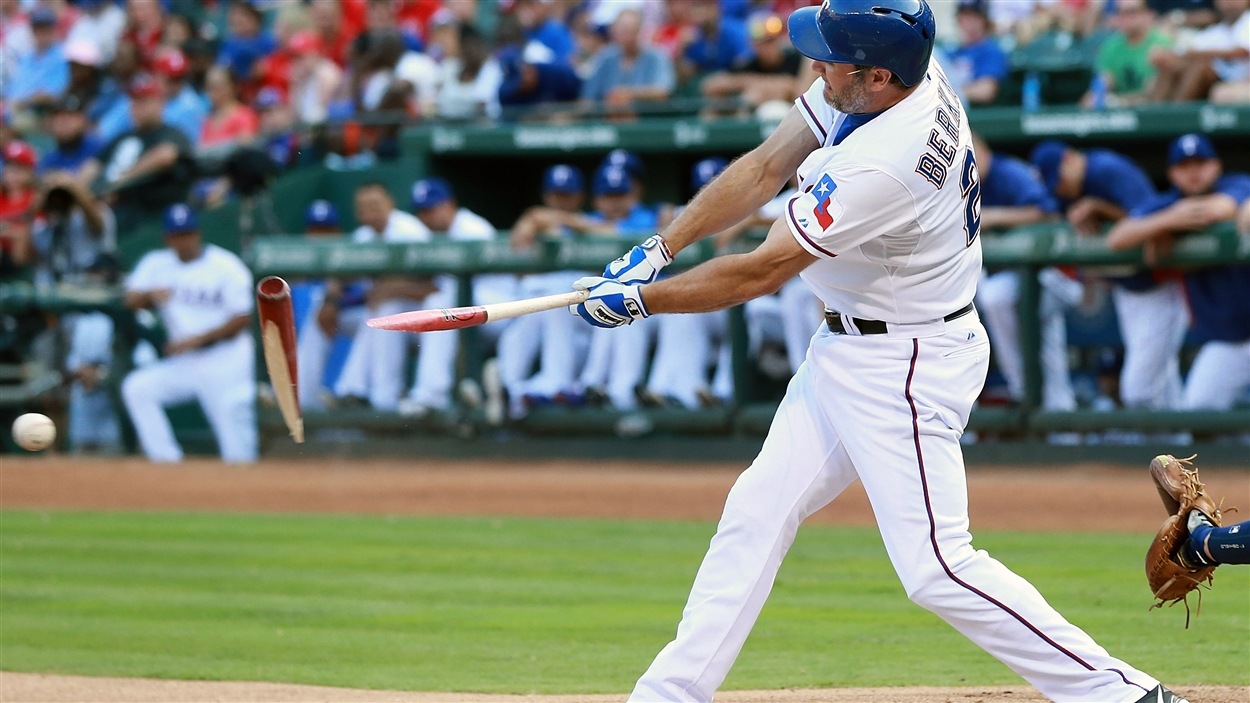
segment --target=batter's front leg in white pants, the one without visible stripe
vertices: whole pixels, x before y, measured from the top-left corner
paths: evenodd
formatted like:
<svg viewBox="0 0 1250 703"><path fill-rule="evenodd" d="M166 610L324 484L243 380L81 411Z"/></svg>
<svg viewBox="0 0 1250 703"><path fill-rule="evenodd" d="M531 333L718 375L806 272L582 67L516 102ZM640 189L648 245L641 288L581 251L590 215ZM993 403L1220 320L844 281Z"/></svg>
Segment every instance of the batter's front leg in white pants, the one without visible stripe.
<svg viewBox="0 0 1250 703"><path fill-rule="evenodd" d="M678 635L630 700L712 699L772 589L799 524L855 480L804 369L791 379L760 454L734 484L695 575Z"/></svg>

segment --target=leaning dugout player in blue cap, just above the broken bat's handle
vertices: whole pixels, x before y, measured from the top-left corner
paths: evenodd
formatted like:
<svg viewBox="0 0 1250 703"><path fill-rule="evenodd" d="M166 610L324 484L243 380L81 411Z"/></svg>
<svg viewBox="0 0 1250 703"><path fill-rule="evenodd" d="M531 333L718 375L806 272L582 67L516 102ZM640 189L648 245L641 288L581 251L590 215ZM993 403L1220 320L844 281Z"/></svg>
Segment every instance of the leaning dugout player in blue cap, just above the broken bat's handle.
<svg viewBox="0 0 1250 703"><path fill-rule="evenodd" d="M581 213L585 198L581 171L558 164L542 175L542 204L521 215L511 229L514 249L529 249L539 239L575 236L561 220ZM569 289L569 283L586 275L581 271L555 271L521 276L518 295L536 298ZM571 388L578 367L585 357L588 330L565 310L548 310L518 318L499 339L495 364L482 369L486 387L486 418L492 424L505 417L520 419L530 404L548 404ZM538 360L538 370L530 369ZM506 395L505 395L506 392Z"/></svg>

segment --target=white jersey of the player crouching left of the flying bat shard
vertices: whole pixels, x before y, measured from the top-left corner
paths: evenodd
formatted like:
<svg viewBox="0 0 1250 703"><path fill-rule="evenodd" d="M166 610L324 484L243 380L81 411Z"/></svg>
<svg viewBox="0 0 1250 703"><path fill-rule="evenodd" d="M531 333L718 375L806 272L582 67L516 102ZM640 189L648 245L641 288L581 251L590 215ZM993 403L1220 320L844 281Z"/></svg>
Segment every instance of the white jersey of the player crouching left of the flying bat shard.
<svg viewBox="0 0 1250 703"><path fill-rule="evenodd" d="M181 341L216 329L236 315L251 314L255 298L251 271L230 251L205 244L194 261L182 261L172 249L149 251L126 279L126 290L168 289L159 311L170 341ZM240 334L236 339L250 339Z"/></svg>

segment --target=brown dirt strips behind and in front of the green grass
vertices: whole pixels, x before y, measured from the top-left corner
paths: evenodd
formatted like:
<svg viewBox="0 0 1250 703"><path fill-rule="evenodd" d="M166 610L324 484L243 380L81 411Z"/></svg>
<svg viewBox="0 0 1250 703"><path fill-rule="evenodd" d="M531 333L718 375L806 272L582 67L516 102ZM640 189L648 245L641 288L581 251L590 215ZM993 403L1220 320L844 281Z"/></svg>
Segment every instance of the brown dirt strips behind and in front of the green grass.
<svg viewBox="0 0 1250 703"><path fill-rule="evenodd" d="M189 462L154 467L142 460L0 458L0 508L186 509L381 514L478 514L714 520L741 465L575 462L510 467L449 460L299 460L258 467ZM1245 468L1202 467L1210 493L1250 507ZM1158 529L1164 513L1138 469L1080 465L974 469L969 473L972 528L1024 530ZM812 517L826 524L872 524L856 484ZM1189 687L1198 700L1245 703L1250 689ZM485 695L355 690L250 682L171 682L0 673L0 700L326 700L534 702L620 700L622 695ZM1040 702L1026 685L730 692L718 700L808 702Z"/></svg>

